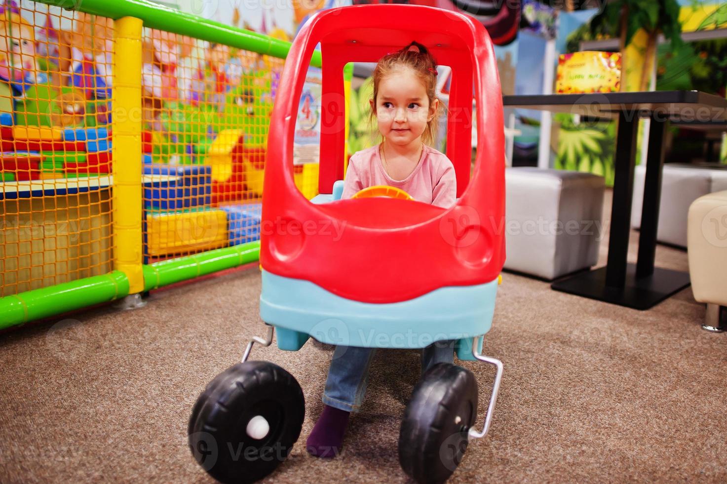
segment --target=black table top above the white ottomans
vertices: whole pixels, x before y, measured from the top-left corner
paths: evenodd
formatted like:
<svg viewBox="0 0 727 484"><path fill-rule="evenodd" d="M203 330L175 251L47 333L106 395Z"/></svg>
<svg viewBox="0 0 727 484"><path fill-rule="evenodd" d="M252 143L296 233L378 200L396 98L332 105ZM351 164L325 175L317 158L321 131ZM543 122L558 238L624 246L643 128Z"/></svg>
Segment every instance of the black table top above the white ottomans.
<svg viewBox="0 0 727 484"><path fill-rule="evenodd" d="M509 95L505 108L539 109L616 118L620 113L681 123L727 121L727 99L701 91L594 92L590 94Z"/></svg>

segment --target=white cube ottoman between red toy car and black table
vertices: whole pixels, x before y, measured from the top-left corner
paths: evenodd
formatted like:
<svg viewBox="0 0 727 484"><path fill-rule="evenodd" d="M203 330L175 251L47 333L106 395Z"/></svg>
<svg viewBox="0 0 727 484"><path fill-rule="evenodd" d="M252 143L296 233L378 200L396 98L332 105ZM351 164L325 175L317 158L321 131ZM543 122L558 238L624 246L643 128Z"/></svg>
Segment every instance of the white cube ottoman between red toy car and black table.
<svg viewBox="0 0 727 484"><path fill-rule="evenodd" d="M552 280L598 261L603 177L517 167L505 184L505 269Z"/></svg>

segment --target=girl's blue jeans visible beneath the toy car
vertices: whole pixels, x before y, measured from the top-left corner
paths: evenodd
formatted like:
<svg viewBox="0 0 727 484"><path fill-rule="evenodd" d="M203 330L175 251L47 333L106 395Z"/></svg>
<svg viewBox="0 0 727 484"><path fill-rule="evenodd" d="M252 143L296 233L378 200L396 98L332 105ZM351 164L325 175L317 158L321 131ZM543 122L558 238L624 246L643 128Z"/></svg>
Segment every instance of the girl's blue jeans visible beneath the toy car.
<svg viewBox="0 0 727 484"><path fill-rule="evenodd" d="M422 349L422 373L436 363L454 362L454 344L457 341L438 341ZM366 394L369 366L374 348L336 346L326 378L323 402L329 407L347 412L358 412Z"/></svg>

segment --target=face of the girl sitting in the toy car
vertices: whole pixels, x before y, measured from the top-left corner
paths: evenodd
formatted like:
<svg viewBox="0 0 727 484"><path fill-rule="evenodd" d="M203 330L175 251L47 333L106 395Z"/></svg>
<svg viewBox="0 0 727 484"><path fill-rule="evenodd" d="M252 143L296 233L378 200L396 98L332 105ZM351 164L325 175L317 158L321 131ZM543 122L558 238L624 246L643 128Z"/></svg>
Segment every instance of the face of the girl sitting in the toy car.
<svg viewBox="0 0 727 484"><path fill-rule="evenodd" d="M424 84L409 68L380 79L376 105L374 100L370 102L379 132L387 142L399 146L419 143L439 103L435 99L430 105Z"/></svg>

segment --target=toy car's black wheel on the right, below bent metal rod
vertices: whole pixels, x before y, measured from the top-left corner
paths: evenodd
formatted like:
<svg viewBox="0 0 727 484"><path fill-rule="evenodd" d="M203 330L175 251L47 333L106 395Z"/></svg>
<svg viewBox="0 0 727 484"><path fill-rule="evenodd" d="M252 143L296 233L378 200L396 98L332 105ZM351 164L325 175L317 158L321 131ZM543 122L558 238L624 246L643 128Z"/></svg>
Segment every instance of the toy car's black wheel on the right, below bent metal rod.
<svg viewBox="0 0 727 484"><path fill-rule="evenodd" d="M422 484L452 475L467 450L477 418L477 381L461 366L438 363L422 376L406 405L399 432L399 463Z"/></svg>

